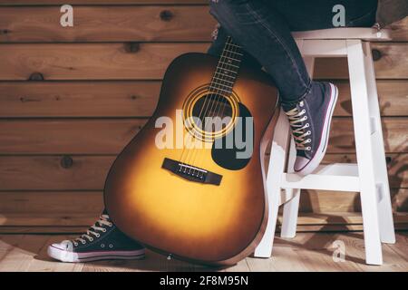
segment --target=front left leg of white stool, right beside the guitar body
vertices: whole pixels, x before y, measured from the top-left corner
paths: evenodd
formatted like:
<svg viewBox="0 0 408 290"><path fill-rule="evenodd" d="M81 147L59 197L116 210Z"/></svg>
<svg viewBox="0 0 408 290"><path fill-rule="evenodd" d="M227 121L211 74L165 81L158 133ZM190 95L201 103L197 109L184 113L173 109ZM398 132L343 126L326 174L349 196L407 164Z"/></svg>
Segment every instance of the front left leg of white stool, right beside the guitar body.
<svg viewBox="0 0 408 290"><path fill-rule="evenodd" d="M289 123L287 122L287 117L283 111L280 111L272 140L267 170L267 228L264 237L262 237L255 249L254 256L269 257L272 254L275 229L277 227L277 210L280 205L280 179L285 169L287 155L288 132Z"/></svg>

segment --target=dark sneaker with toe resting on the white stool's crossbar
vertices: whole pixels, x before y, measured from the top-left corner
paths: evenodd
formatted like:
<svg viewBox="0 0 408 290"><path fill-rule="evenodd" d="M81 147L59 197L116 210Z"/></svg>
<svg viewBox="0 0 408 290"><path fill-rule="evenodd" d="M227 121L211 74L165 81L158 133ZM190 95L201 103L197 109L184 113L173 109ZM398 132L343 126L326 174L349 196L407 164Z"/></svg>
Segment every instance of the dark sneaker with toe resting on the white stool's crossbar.
<svg viewBox="0 0 408 290"><path fill-rule="evenodd" d="M313 82L312 90L296 104L282 104L296 144L295 172L313 172L325 156L337 87L330 82Z"/></svg>

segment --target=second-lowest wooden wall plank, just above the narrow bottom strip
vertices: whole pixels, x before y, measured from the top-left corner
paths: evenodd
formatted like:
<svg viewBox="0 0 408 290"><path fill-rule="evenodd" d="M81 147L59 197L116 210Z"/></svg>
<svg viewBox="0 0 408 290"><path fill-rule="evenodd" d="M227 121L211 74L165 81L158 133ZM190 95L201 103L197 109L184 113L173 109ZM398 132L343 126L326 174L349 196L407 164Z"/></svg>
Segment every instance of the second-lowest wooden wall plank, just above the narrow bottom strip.
<svg viewBox="0 0 408 290"><path fill-rule="evenodd" d="M3 191L0 192L0 213L41 214L60 217L90 216L102 212L102 191ZM392 189L393 211L408 211L408 189ZM300 198L301 212L361 212L358 193L304 190ZM34 225L34 224L33 224Z"/></svg>

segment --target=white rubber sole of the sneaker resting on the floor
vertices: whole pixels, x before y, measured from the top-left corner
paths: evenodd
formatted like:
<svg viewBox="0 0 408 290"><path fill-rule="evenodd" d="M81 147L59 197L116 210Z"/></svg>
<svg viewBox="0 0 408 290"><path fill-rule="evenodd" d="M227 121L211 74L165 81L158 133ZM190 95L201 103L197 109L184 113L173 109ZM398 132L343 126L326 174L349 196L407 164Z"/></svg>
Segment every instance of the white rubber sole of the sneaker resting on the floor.
<svg viewBox="0 0 408 290"><path fill-rule="evenodd" d="M100 251L87 253L74 253L59 247L49 246L48 256L56 260L69 263L91 262L99 260L133 260L144 258L144 249L134 251Z"/></svg>

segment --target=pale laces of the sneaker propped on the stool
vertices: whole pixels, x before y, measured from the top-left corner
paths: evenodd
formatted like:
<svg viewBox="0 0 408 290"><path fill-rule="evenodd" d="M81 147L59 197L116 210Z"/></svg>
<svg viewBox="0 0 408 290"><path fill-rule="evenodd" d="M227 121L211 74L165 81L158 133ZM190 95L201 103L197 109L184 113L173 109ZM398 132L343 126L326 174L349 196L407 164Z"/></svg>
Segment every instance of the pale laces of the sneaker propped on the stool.
<svg viewBox="0 0 408 290"><path fill-rule="evenodd" d="M303 102L300 102L300 106L303 107ZM307 116L304 116L306 110L303 109L302 111L298 111L295 107L290 111L286 111L285 113L287 114L290 127L292 128L292 136L295 140L296 150L312 150L310 146L306 146L306 144L310 143L312 140L305 139L306 136L311 134L311 131L305 131L305 129L309 128L310 125L308 122L306 122L305 125L302 125L302 122L307 120Z"/></svg>

